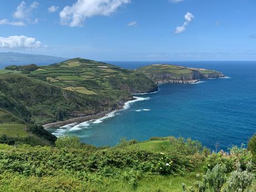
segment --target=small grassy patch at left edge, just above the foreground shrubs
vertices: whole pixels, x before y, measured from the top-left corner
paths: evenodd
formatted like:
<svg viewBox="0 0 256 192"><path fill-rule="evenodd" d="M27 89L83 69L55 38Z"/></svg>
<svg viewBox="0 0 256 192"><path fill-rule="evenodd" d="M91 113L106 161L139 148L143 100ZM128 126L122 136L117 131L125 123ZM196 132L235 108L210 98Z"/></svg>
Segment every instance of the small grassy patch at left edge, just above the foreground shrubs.
<svg viewBox="0 0 256 192"><path fill-rule="evenodd" d="M5 134L9 137L27 137L26 125L19 124L0 124L0 134Z"/></svg>

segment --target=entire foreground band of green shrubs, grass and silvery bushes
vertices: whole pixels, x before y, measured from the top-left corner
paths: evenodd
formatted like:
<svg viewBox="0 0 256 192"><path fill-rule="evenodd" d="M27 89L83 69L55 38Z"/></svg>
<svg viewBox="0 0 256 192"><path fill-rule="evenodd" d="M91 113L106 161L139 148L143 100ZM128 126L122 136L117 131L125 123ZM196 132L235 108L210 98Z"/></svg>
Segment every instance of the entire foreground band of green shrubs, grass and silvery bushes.
<svg viewBox="0 0 256 192"><path fill-rule="evenodd" d="M256 136L248 149L234 146L229 153L174 137L96 148L66 136L55 144L1 144L0 191L256 190Z"/></svg>

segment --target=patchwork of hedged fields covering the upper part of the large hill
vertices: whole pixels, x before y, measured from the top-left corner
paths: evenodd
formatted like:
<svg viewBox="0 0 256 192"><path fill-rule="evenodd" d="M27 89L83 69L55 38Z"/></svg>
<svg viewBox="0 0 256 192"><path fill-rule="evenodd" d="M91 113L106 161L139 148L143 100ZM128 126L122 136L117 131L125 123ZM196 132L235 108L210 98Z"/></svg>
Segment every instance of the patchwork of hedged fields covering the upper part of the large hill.
<svg viewBox="0 0 256 192"><path fill-rule="evenodd" d="M38 67L28 76L87 95L116 96L124 91L141 93L156 90L156 85L140 72L82 58Z"/></svg>

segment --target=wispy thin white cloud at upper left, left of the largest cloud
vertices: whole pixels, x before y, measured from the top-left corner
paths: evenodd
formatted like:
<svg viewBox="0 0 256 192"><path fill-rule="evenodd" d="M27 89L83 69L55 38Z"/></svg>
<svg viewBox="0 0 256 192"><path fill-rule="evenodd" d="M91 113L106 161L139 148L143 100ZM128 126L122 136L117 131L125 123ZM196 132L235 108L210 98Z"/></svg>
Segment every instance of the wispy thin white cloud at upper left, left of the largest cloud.
<svg viewBox="0 0 256 192"><path fill-rule="evenodd" d="M35 19L35 21L32 22L32 11L36 9L39 6L38 2L33 2L30 6L27 7L26 2L22 1L19 3L17 10L13 13L13 18L16 19L24 19L28 21L29 23L36 23L38 21L38 18Z"/></svg>

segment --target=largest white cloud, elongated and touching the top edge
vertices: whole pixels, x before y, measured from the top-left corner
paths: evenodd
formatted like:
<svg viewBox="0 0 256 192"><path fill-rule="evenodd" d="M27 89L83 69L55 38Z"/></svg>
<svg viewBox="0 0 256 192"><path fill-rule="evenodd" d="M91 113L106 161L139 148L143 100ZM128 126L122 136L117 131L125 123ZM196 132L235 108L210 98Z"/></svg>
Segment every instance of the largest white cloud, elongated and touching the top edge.
<svg viewBox="0 0 256 192"><path fill-rule="evenodd" d="M122 4L130 0L77 0L72 6L66 6L60 12L61 24L70 27L83 26L87 17L109 16Z"/></svg>

